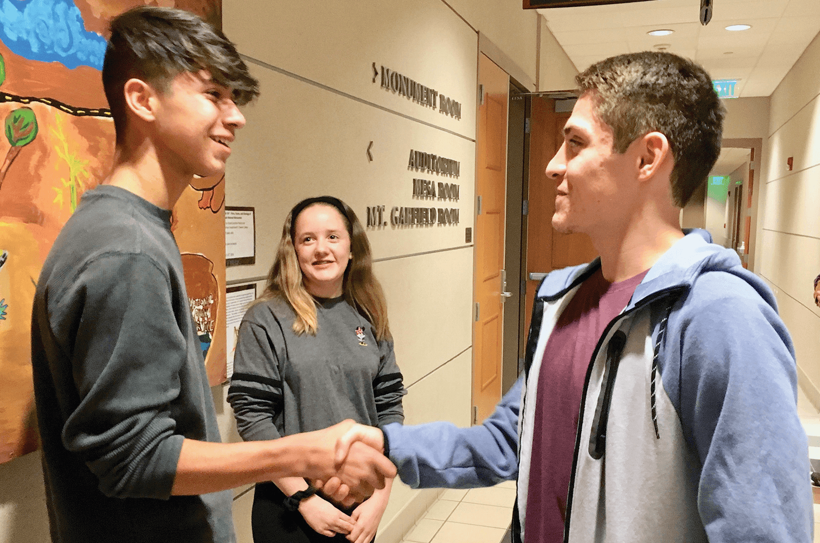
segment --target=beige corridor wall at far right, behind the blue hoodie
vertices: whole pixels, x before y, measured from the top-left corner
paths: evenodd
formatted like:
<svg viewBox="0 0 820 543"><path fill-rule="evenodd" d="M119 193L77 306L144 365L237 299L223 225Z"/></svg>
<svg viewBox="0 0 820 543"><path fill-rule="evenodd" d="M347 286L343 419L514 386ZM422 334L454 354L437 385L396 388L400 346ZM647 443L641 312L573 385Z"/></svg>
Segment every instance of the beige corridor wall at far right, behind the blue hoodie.
<svg viewBox="0 0 820 543"><path fill-rule="evenodd" d="M755 271L777 294L795 341L801 385L820 404L820 310L812 281L820 272L820 37L771 97L764 140L761 221ZM786 160L794 157L794 169Z"/></svg>

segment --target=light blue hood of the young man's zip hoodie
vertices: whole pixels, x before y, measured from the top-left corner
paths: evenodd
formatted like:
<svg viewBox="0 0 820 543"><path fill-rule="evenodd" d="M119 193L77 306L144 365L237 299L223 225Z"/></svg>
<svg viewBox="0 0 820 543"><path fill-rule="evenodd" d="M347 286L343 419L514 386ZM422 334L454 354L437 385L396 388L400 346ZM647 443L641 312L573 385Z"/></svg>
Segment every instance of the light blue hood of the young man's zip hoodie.
<svg viewBox="0 0 820 543"><path fill-rule="evenodd" d="M663 256L649 268L644 280L635 289L626 310L635 307L645 299L667 290L690 290L700 276L709 272L727 272L748 283L773 309L777 302L772 291L754 273L746 270L737 253L712 243L708 231L699 228L684 230L681 240L677 240ZM585 281L601 266L600 258L589 264L567 267L552 272L542 281L538 298L558 299L568 290Z"/></svg>

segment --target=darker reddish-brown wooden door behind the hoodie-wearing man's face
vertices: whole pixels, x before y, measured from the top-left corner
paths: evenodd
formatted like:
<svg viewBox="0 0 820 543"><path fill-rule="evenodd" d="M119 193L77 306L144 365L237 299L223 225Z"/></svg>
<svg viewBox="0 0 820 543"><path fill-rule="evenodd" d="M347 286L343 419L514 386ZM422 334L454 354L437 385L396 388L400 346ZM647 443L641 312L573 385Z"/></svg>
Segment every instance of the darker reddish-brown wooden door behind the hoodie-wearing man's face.
<svg viewBox="0 0 820 543"><path fill-rule="evenodd" d="M585 234L561 234L553 229L555 182L547 178L549 161L563 144L563 127L570 112L556 113L555 100L533 97L530 108L530 190L526 230L526 321L530 328L532 302L543 274L590 262L598 256Z"/></svg>

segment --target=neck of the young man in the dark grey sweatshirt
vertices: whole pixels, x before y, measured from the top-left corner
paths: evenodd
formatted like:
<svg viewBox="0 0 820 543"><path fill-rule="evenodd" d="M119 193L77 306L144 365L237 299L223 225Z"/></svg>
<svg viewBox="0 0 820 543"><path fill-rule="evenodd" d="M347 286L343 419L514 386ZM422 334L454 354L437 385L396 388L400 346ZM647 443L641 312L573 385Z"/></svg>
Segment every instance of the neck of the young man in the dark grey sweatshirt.
<svg viewBox="0 0 820 543"><path fill-rule="evenodd" d="M103 185L128 190L163 209L173 209L193 175L165 167L145 139L135 146L118 146L114 167Z"/></svg>

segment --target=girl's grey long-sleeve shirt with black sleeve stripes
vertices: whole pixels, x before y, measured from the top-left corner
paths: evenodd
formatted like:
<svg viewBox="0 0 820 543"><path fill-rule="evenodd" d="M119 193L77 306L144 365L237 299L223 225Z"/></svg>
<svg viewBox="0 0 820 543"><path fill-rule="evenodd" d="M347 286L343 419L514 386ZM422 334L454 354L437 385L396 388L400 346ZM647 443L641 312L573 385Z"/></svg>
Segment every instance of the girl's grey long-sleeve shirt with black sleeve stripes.
<svg viewBox="0 0 820 543"><path fill-rule="evenodd" d="M346 418L403 422L406 394L392 341L342 298L317 303L317 335L296 335L280 299L256 303L239 326L228 401L245 440L320 430Z"/></svg>

